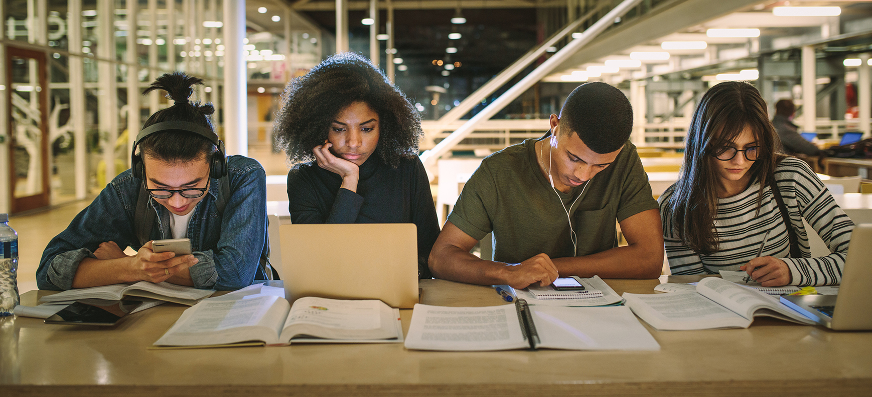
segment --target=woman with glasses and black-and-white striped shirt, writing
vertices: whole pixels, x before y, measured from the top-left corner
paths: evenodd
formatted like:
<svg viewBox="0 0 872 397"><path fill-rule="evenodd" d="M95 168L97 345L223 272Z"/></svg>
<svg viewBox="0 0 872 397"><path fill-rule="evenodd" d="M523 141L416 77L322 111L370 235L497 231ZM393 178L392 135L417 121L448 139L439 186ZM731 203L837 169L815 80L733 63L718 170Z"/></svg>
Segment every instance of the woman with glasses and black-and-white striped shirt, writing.
<svg viewBox="0 0 872 397"><path fill-rule="evenodd" d="M763 286L841 282L854 222L805 162L777 152L753 85L707 91L686 139L680 177L658 199L672 274L742 270ZM828 255L811 257L802 219Z"/></svg>

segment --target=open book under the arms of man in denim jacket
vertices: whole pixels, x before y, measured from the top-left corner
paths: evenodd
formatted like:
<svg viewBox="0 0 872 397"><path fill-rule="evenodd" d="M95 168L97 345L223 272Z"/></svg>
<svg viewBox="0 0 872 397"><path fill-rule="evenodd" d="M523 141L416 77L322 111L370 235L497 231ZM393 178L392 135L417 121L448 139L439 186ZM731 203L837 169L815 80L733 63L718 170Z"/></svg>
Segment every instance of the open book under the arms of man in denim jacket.
<svg viewBox="0 0 872 397"><path fill-rule="evenodd" d="M41 302L61 302L66 300L78 299L106 299L120 300L125 296L136 296L140 298L151 298L165 300L167 302L178 303L181 305L194 306L208 296L215 293L215 290L201 290L191 286L177 286L167 283L150 283L148 281L140 281L136 284L113 284L112 286L92 286L91 288L77 288L63 293L55 293L46 295L39 299Z"/></svg>

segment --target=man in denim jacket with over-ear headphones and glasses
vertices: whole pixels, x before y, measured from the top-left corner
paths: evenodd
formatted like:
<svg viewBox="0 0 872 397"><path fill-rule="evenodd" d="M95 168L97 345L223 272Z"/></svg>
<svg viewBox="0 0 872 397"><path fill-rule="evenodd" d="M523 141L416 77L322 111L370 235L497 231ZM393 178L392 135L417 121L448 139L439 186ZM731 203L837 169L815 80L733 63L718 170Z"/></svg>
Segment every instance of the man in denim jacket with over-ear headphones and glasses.
<svg viewBox="0 0 872 397"><path fill-rule="evenodd" d="M64 232L37 270L39 289L67 290L151 281L235 290L271 275L266 173L252 158L227 157L208 116L192 103L202 80L159 77L174 104L155 112L133 145L132 165L114 178ZM156 239L190 239L193 254L153 252ZM127 246L137 250L127 256Z"/></svg>

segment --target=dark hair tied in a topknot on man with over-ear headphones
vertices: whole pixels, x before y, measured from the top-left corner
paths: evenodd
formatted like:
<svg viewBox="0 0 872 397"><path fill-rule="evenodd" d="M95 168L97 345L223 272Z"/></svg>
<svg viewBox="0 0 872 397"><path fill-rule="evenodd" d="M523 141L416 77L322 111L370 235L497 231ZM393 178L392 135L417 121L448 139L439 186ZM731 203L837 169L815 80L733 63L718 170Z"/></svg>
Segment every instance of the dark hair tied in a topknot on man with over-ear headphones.
<svg viewBox="0 0 872 397"><path fill-rule="evenodd" d="M188 76L184 72L174 71L158 77L154 82L142 91L146 94L155 90L167 91L167 98L174 104L166 109L155 111L154 114L142 125L147 126L163 121L187 121L202 125L215 131L209 116L215 113L212 104L200 104L191 102L188 98L194 93L194 85L203 84L203 79ZM217 148L208 138L194 132L166 131L156 132L139 143L140 153L170 164L184 163L205 157L206 161L212 159Z"/></svg>

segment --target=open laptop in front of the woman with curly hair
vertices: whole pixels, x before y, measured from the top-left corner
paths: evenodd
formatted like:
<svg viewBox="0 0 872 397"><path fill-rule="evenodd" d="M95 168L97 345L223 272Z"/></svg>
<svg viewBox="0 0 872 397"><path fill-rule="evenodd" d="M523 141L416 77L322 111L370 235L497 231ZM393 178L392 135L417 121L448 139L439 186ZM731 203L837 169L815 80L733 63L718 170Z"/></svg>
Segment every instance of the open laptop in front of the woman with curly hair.
<svg viewBox="0 0 872 397"><path fill-rule="evenodd" d="M418 303L414 224L280 225L285 296Z"/></svg>

